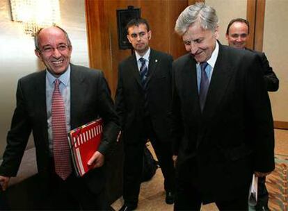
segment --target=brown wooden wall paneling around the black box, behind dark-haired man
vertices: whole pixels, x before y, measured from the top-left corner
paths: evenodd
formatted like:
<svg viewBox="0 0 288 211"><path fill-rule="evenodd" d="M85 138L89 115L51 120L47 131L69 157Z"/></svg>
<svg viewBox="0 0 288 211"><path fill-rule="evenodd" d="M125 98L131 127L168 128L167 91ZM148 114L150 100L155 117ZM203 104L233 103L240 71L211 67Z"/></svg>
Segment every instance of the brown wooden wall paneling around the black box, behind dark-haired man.
<svg viewBox="0 0 288 211"><path fill-rule="evenodd" d="M131 55L131 50L118 49L116 10L127 6L141 8L152 31L150 47L170 53L173 58L184 55L182 40L174 33L176 19L188 6L188 1L161 0L86 0L86 21L90 67L102 69L111 92L115 95L118 64Z"/></svg>

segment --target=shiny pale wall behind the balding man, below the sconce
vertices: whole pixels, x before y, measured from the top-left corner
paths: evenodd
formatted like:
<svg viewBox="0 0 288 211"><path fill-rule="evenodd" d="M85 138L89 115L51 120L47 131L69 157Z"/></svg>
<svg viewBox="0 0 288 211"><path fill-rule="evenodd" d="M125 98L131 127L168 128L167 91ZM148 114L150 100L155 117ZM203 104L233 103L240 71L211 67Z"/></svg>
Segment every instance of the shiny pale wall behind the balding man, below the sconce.
<svg viewBox="0 0 288 211"><path fill-rule="evenodd" d="M88 67L88 45L84 1L61 0L61 23L72 40L72 62ZM0 157L15 108L17 81L42 69L34 55L33 37L25 35L21 23L10 18L9 0L0 1Z"/></svg>

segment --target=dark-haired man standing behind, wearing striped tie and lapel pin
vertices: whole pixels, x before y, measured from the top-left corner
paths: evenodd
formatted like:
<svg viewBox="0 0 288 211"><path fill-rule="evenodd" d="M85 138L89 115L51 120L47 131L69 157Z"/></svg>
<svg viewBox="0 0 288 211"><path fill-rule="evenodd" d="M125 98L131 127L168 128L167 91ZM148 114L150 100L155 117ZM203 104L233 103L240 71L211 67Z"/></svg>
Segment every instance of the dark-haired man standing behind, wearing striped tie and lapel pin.
<svg viewBox="0 0 288 211"><path fill-rule="evenodd" d="M150 49L152 33L145 19L132 19L127 24L127 33L135 53L119 65L115 104L125 149L125 204L121 210L134 210L141 186L143 149L148 139L164 176L166 203L174 202L175 173L168 119L173 58Z"/></svg>

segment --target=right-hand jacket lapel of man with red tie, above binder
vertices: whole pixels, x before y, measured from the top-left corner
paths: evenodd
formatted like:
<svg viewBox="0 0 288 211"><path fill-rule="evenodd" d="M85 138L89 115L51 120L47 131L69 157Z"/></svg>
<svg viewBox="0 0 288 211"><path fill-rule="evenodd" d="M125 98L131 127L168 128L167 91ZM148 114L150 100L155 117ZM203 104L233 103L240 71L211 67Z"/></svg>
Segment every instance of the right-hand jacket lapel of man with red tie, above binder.
<svg viewBox="0 0 288 211"><path fill-rule="evenodd" d="M84 83L83 75L79 67L70 64L71 73L70 73L70 124L71 129L74 129L78 126L77 119L81 119L83 113L83 102L85 94L87 93L87 87Z"/></svg>

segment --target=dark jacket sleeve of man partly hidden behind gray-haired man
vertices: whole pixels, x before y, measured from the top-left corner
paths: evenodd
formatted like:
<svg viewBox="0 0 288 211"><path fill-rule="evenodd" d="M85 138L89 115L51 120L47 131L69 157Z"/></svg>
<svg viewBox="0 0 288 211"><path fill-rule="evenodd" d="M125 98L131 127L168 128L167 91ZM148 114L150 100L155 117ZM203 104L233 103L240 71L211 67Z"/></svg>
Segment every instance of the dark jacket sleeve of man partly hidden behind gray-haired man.
<svg viewBox="0 0 288 211"><path fill-rule="evenodd" d="M265 53L253 51L251 49L246 49L248 51L257 53L259 57L261 58L261 64L262 64L262 70L264 71L264 81L266 84L267 91L269 92L276 92L279 88L279 79L277 78L276 74L273 72L272 67L269 65L269 61L267 60L267 57Z"/></svg>

